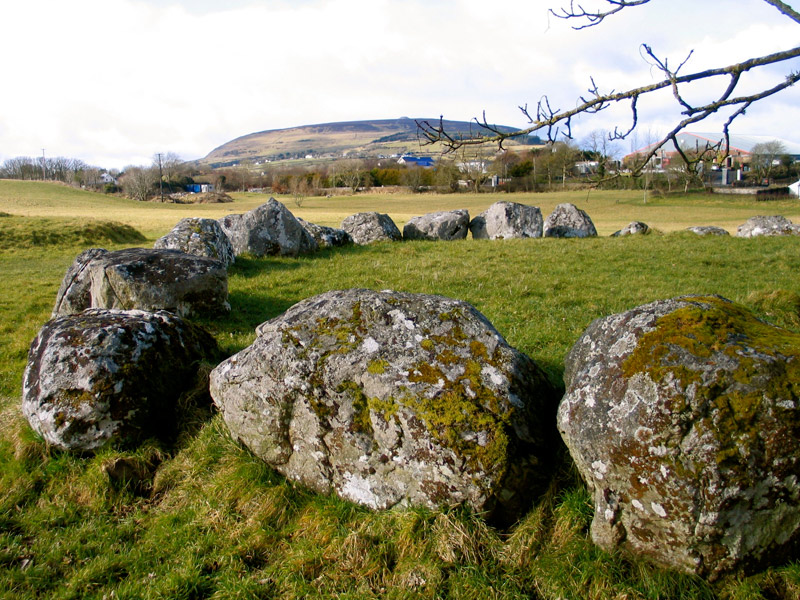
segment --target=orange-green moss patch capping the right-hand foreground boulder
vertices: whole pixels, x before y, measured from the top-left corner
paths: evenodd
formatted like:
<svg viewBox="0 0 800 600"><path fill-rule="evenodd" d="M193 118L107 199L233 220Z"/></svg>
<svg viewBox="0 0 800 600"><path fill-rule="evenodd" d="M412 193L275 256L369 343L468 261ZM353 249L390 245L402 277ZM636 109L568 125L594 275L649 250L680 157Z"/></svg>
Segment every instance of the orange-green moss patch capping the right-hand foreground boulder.
<svg viewBox="0 0 800 600"><path fill-rule="evenodd" d="M763 443L762 421L769 413L764 404L800 399L800 335L717 297L694 302L704 306L693 303L658 319L623 362L622 372L627 378L647 373L656 383L679 382L669 408L687 413L684 422L695 433L716 440L718 465L739 468L750 449ZM715 366L723 363L735 367ZM714 411L713 421L707 410ZM781 426L800 431L796 411L787 418Z"/></svg>

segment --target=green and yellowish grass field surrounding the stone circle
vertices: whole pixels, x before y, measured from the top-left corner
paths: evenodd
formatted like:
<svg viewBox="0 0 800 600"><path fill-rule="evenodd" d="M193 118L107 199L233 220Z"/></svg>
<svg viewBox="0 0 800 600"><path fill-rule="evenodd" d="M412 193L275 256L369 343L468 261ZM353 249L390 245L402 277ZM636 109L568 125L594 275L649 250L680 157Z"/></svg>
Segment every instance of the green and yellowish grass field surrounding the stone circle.
<svg viewBox="0 0 800 600"><path fill-rule="evenodd" d="M75 457L47 448L19 411L30 341L83 249L150 246L185 216L225 205L141 204L71 188L0 181L0 598L798 598L800 563L711 585L597 549L592 504L568 456L550 489L507 531L462 509L373 513L299 488L255 460L201 406L174 446ZM589 212L601 235L642 220L662 235L590 240L379 244L301 258L237 259L231 315L203 323L227 353L295 302L330 289L392 288L466 300L560 385L563 359L595 318L644 302L717 293L800 331L800 239L700 238L755 214L797 221L796 201L641 192L515 196L358 195L308 198L298 216L338 225L379 210L402 228L449 208L477 214L498 199L560 202ZM115 222L115 223L109 223ZM106 475L127 458L144 486Z"/></svg>

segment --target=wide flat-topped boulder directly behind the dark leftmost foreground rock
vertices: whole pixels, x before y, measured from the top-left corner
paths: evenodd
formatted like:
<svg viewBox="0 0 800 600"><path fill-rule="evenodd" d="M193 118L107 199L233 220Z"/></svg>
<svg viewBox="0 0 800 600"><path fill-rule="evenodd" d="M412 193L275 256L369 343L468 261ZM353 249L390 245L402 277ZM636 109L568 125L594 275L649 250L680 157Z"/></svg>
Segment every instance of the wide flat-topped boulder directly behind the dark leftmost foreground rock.
<svg viewBox="0 0 800 600"><path fill-rule="evenodd" d="M228 273L218 260L178 250L82 252L67 270L53 317L87 308L168 310L182 317L228 312Z"/></svg>

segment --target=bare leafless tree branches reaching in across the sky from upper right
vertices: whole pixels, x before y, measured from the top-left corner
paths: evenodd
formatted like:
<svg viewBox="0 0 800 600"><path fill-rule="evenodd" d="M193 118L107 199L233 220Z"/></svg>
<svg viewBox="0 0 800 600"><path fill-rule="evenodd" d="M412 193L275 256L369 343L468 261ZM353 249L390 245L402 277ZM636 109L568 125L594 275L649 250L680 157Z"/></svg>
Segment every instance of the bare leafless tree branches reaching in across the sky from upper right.
<svg viewBox="0 0 800 600"><path fill-rule="evenodd" d="M600 6L597 9L585 9L583 5L570 0L567 8L551 10L550 14L561 19L576 23L574 29L585 29L603 23L603 21L623 10L633 7L644 6L651 0L598 0ZM800 24L800 12L796 11L788 3L782 0L762 0L765 4L778 10L783 16ZM594 3L596 6L597 3ZM752 20L757 18L753 8L748 8L741 12L743 18ZM580 97L574 108L565 110L554 109L550 104L548 96L540 96L541 99L535 108L524 105L521 108L523 115L528 119L529 126L517 131L506 132L491 125L484 113L482 119L475 119L481 127L489 130L489 135L464 136L455 132L450 132L444 125L444 120L438 122L418 121L417 125L421 136L428 143L443 143L451 150L462 148L466 145L481 145L486 142L502 144L504 140L521 135L529 135L534 132L546 134L550 142L560 139L571 139L573 119L581 115L592 115L603 111L610 106L619 103L626 103L630 107L631 120L629 126L622 129L615 128L613 133L614 140L626 139L635 131L639 122L639 103L642 99L658 93L659 90L671 90L675 105L680 108L682 117L674 124L666 135L654 143L647 152L642 153L640 160L632 165L634 174L638 174L645 169L650 159L656 156L659 151L670 141L674 143L678 153L685 162L690 162L692 157L683 153L677 141L677 135L687 127L699 123L711 115L718 113L724 114L727 119L722 127L723 142L720 151L726 156L729 151L729 128L735 119L740 117L753 104L764 99L770 98L775 94L785 90L800 81L800 71L791 70L788 61L800 57L800 46L795 46L788 50L781 50L756 56L747 60L729 65L686 73L685 68L691 58L693 51L690 51L686 58L677 66L670 64L666 58L658 56L653 49L642 44L641 54L650 64L654 72L661 74L661 80L656 83L648 83L623 91L601 91L599 85L590 78L590 86L587 96ZM719 56L724 56L719 53ZM780 79L776 79L773 84L765 84L756 90L743 90L746 83L743 83L743 75L747 73L758 73L761 77L770 77L775 72L775 65L786 64L787 73ZM746 79L746 78L745 78ZM698 96L698 86L694 84L705 82L704 95ZM716 84L716 85L715 85ZM537 95L540 95L537 93ZM697 100L696 98L701 98ZM477 129L477 131L480 131Z"/></svg>

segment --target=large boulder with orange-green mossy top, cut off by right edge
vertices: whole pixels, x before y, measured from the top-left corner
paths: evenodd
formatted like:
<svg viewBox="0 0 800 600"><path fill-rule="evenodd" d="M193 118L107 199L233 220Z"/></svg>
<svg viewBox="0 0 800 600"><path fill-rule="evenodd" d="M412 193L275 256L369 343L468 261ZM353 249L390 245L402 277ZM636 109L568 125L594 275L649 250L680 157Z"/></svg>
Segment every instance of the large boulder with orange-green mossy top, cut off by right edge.
<svg viewBox="0 0 800 600"><path fill-rule="evenodd" d="M800 336L675 298L593 322L564 378L597 544L713 579L800 539Z"/></svg>

